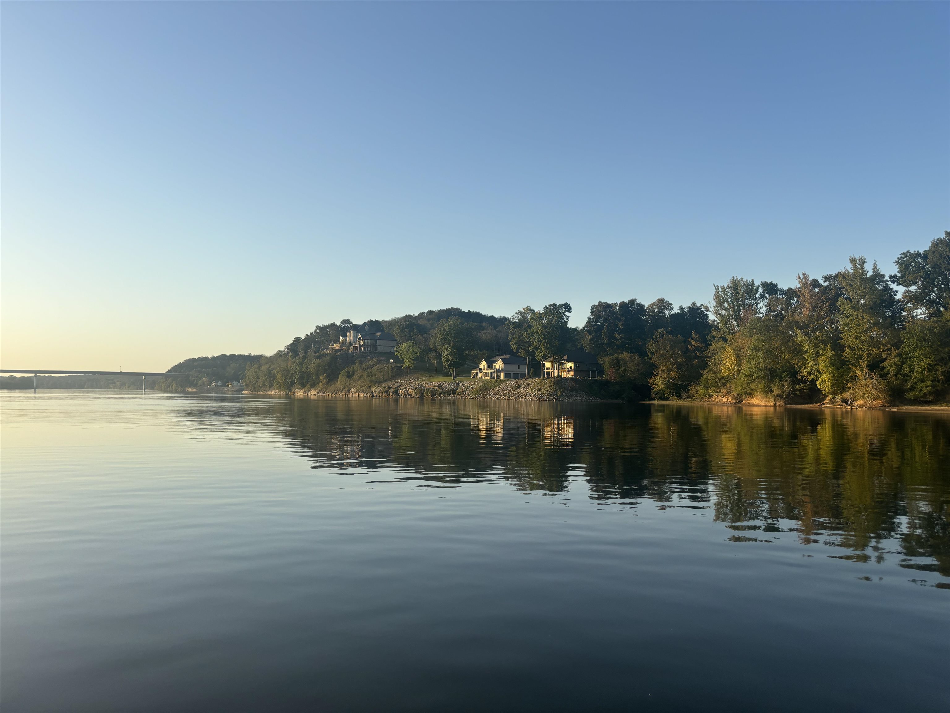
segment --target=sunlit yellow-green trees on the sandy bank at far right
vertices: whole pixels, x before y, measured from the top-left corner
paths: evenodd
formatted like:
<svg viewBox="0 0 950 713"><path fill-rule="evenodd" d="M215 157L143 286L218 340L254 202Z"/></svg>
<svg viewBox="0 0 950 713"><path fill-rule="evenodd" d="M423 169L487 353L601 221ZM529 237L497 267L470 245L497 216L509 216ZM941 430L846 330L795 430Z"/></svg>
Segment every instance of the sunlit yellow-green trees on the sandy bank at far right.
<svg viewBox="0 0 950 713"><path fill-rule="evenodd" d="M902 254L893 279L916 290L903 299L861 257L821 280L802 273L786 290L740 278L716 285L719 330L700 393L787 399L817 389L826 399L869 405L901 394L937 398L946 378L942 337L918 325L914 313L942 314L941 244Z"/></svg>

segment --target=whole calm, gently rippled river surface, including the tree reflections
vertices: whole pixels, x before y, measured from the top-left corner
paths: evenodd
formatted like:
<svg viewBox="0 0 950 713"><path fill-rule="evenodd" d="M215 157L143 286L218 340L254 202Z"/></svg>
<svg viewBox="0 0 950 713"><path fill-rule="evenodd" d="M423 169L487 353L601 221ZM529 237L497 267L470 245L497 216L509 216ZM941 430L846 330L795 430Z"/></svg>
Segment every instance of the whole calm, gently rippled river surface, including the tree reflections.
<svg viewBox="0 0 950 713"><path fill-rule="evenodd" d="M0 409L5 711L950 706L945 415Z"/></svg>

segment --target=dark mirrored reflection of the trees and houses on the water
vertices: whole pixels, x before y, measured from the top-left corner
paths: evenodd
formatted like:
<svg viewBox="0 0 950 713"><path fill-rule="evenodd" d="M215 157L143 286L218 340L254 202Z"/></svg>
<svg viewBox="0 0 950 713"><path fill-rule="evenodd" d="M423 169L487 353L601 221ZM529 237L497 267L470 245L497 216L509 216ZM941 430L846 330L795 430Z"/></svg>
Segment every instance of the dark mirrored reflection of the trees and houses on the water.
<svg viewBox="0 0 950 713"><path fill-rule="evenodd" d="M250 403L250 402L249 402ZM835 555L950 576L950 418L942 414L429 400L262 399L315 468L504 478L604 502L712 507L736 542L792 530ZM792 521L792 522L789 522ZM897 539L900 551L884 540Z"/></svg>

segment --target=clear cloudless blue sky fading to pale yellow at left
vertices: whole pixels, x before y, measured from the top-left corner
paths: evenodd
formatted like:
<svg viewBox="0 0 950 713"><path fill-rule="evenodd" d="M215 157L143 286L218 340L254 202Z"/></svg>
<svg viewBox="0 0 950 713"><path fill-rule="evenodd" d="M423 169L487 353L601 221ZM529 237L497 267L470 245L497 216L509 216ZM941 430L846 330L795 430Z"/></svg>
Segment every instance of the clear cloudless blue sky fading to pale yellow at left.
<svg viewBox="0 0 950 713"><path fill-rule="evenodd" d="M950 4L10 3L0 365L708 302L950 229Z"/></svg>

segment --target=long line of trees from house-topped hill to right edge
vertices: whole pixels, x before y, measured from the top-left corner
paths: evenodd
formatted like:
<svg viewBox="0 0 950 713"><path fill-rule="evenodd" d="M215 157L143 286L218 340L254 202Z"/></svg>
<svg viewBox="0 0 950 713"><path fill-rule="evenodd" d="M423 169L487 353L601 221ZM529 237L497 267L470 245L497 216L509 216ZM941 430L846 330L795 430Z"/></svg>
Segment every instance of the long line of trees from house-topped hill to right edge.
<svg viewBox="0 0 950 713"><path fill-rule="evenodd" d="M900 293L899 293L900 288ZM571 305L524 307L511 318L456 308L368 320L400 343L397 363L451 371L511 353L539 363L583 348L618 395L772 403L933 402L950 385L950 232L907 251L896 272L852 258L843 270L782 288L734 277L713 285L710 305L666 299L598 302L583 327ZM321 324L272 357L248 366L251 391L347 388L390 377L390 356L328 348L352 328ZM404 348L410 345L411 348Z"/></svg>

